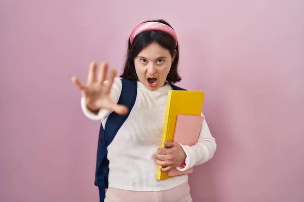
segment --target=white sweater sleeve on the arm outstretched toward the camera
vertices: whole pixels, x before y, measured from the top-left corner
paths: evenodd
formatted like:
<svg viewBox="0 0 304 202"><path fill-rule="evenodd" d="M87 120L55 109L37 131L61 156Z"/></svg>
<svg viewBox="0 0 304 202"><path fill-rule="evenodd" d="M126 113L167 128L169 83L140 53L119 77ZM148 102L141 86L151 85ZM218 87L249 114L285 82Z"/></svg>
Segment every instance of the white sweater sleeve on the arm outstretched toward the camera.
<svg viewBox="0 0 304 202"><path fill-rule="evenodd" d="M106 83L106 82L107 81L105 81L104 83ZM120 78L115 77L115 79L113 81L113 84L112 84L112 87L111 87L111 90L110 90L110 98L113 100L113 102L118 103L121 92L122 92L122 81L121 81ZM112 111L107 110L107 109L101 109L98 112L97 115L92 113L87 108L84 97L81 98L81 108L82 108L82 111L83 111L84 115L87 118L89 118L91 120L94 120L94 121L97 121L97 120L101 121L101 120L105 119L112 112Z"/></svg>

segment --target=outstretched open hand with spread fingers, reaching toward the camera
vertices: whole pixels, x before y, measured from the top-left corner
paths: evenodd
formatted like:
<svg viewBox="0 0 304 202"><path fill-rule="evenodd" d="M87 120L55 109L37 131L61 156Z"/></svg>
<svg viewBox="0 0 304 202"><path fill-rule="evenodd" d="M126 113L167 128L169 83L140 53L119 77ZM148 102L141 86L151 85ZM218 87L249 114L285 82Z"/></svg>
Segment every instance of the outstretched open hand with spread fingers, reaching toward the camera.
<svg viewBox="0 0 304 202"><path fill-rule="evenodd" d="M116 70L111 70L107 82L106 79L108 64L102 62L97 76L97 64L92 62L88 73L87 84L83 84L77 77L72 77L72 83L77 87L85 99L86 106L92 112L99 112L101 109L108 109L120 115L128 113L128 108L118 105L110 98L110 90L116 76Z"/></svg>

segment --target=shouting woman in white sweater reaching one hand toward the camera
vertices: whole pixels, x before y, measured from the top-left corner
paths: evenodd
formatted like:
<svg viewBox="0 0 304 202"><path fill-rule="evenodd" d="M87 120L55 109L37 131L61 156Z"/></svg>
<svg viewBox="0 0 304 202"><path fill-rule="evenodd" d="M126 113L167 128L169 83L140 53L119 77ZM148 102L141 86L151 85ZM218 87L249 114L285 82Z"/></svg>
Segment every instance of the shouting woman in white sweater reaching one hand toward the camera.
<svg viewBox="0 0 304 202"><path fill-rule="evenodd" d="M179 47L175 31L164 20L146 21L132 31L122 78L137 81L134 107L115 138L107 147L109 160L108 189L105 200L115 201L192 201L188 176L180 175L157 180L161 171L173 167L183 171L209 161L216 150L204 119L198 142L193 146L162 141L170 84L181 80L177 72ZM73 77L72 82L82 93L81 106L92 120L105 125L111 112L128 113L118 105L122 80L112 70L108 80L107 64L103 62L97 75L97 65L91 63L88 82ZM203 115L202 115L203 116ZM103 198L101 198L103 201Z"/></svg>

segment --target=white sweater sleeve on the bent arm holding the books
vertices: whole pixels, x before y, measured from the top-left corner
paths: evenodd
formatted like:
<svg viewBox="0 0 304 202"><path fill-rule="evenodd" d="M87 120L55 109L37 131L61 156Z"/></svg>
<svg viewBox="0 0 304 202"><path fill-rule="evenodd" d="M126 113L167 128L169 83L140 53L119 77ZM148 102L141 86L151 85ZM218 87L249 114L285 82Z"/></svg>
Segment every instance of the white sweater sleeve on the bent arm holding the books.
<svg viewBox="0 0 304 202"><path fill-rule="evenodd" d="M202 116L204 115L202 114ZM206 118L203 120L198 142L193 146L180 145L186 154L186 166L184 168L177 167L176 169L179 171L185 171L212 159L216 150L216 142L209 130Z"/></svg>

